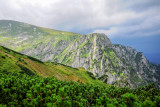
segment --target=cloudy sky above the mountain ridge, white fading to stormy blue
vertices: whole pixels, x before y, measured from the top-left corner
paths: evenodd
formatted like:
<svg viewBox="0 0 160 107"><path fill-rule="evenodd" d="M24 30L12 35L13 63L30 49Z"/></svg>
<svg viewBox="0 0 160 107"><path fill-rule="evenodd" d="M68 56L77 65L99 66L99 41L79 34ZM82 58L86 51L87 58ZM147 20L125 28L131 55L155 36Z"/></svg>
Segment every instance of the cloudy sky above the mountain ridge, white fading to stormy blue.
<svg viewBox="0 0 160 107"><path fill-rule="evenodd" d="M81 34L105 33L160 63L160 0L0 0L0 20Z"/></svg>

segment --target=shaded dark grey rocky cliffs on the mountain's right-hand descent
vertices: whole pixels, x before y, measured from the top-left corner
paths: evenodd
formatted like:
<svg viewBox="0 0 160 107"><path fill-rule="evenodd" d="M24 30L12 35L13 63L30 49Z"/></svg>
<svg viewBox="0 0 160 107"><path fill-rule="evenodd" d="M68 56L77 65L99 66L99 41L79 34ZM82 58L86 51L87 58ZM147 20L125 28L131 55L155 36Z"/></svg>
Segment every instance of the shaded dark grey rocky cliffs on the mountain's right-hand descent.
<svg viewBox="0 0 160 107"><path fill-rule="evenodd" d="M142 52L122 45L113 45L113 49L126 67L132 87L147 83L156 83L157 87L160 87L159 70L146 59Z"/></svg>

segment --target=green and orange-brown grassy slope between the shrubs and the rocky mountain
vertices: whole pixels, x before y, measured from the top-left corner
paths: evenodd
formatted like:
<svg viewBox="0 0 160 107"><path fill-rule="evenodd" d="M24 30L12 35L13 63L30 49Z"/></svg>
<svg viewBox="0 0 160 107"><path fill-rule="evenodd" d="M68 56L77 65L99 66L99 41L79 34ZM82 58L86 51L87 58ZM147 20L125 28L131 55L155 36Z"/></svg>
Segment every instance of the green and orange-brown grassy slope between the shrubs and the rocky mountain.
<svg viewBox="0 0 160 107"><path fill-rule="evenodd" d="M106 85L92 79L83 68L72 68L57 63L41 62L32 57L19 54L0 46L0 72L21 72L29 75L38 74L42 77L52 77L62 81L81 81L89 84Z"/></svg>

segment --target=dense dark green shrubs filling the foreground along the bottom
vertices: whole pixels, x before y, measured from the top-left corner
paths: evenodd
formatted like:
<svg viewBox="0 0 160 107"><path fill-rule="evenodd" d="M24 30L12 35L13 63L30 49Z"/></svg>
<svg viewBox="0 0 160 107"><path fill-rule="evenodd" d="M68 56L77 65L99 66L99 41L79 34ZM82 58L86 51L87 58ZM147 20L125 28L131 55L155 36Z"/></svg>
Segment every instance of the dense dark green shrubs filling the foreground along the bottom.
<svg viewBox="0 0 160 107"><path fill-rule="evenodd" d="M106 88L19 73L0 73L0 80L0 106L160 106L160 90L154 84L135 90Z"/></svg>

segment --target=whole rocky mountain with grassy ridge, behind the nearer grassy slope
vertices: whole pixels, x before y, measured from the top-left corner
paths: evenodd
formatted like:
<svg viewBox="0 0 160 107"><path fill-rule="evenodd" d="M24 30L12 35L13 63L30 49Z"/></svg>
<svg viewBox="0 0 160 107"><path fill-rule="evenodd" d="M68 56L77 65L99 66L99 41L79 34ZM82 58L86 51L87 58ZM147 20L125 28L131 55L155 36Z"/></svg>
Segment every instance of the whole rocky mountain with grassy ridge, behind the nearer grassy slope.
<svg viewBox="0 0 160 107"><path fill-rule="evenodd" d="M142 52L112 44L105 34L81 35L1 20L0 45L43 62L84 67L108 84L136 88L156 83L160 87L156 65Z"/></svg>

